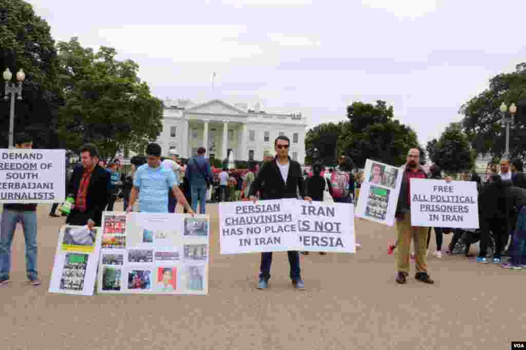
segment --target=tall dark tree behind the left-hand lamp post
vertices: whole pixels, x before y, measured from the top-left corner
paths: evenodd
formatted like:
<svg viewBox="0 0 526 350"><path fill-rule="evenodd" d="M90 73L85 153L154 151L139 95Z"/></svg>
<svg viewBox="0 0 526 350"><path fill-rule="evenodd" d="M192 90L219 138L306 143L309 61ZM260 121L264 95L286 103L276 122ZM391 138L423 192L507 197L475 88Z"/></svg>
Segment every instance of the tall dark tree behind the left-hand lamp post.
<svg viewBox="0 0 526 350"><path fill-rule="evenodd" d="M23 99L15 104L15 133L34 137L34 147L54 148L57 109L62 96L57 84L57 52L49 25L22 0L0 0L0 70L8 67L16 81L24 69ZM3 96L3 91L2 91ZM0 103L0 147L7 147L9 103Z"/></svg>

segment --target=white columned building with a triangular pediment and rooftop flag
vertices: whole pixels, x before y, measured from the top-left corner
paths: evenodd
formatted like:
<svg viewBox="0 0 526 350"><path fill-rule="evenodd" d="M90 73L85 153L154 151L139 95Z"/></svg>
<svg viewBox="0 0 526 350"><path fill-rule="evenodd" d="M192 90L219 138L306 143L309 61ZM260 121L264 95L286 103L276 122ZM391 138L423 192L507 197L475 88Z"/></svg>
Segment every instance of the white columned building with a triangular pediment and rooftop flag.
<svg viewBox="0 0 526 350"><path fill-rule="evenodd" d="M290 138L290 157L304 164L307 118L301 113L261 111L259 104L230 105L220 99L194 104L188 99L166 99L163 131L157 143L168 155L175 148L180 157L195 155L198 147L207 149L207 157L225 159L233 152L238 161L262 161L274 156L278 135Z"/></svg>

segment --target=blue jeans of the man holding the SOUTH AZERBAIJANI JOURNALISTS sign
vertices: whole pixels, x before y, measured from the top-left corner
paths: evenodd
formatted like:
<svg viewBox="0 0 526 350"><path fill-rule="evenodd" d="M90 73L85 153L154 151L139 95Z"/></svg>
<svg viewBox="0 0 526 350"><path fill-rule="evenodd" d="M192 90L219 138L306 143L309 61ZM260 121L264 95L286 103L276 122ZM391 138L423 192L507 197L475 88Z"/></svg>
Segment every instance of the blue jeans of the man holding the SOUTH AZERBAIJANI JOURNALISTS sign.
<svg viewBox="0 0 526 350"><path fill-rule="evenodd" d="M36 271L36 211L17 211L4 209L2 213L2 235L0 236L0 278L9 278L11 271L11 244L16 224L22 223L26 241L27 278L35 279Z"/></svg>

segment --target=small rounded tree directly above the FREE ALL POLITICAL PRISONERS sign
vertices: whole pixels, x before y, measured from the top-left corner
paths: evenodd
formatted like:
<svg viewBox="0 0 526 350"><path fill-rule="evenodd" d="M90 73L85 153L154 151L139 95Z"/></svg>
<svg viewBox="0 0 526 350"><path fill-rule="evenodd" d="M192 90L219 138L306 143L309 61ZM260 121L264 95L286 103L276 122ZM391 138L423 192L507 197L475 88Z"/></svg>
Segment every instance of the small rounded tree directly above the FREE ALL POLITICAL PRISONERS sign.
<svg viewBox="0 0 526 350"><path fill-rule="evenodd" d="M438 140L428 142L427 150L431 161L450 173L467 171L475 165L475 153L460 123L451 123Z"/></svg>

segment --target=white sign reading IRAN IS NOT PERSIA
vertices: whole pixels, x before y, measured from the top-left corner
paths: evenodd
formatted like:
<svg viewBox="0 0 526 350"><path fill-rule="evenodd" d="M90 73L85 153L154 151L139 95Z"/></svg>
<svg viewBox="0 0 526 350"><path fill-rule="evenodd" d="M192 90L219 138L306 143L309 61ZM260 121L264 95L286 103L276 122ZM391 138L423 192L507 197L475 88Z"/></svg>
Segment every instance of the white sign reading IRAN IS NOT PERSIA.
<svg viewBox="0 0 526 350"><path fill-rule="evenodd" d="M298 201L301 251L355 253L352 204Z"/></svg>

